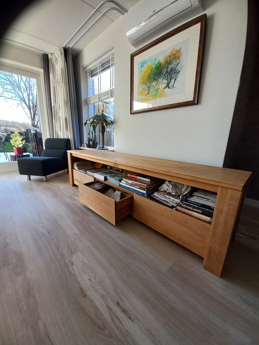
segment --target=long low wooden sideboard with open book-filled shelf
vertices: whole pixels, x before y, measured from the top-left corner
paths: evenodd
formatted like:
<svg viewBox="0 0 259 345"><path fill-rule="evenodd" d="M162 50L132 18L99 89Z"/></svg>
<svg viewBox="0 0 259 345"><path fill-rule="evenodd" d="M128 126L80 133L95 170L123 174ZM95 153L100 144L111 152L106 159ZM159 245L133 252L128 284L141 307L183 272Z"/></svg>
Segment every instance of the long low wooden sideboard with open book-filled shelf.
<svg viewBox="0 0 259 345"><path fill-rule="evenodd" d="M94 178L73 169L73 162L80 160L90 160L120 171L139 172L217 192L211 224L136 193L128 193L133 195L131 213L134 218L202 256L203 268L221 276L251 172L102 150L70 150L68 151L70 185L79 186L80 200L88 206L89 200L84 199L87 195L87 187L83 187L84 189L80 187L94 181ZM113 187L123 190L117 186ZM91 200L91 203L95 202L95 198ZM95 205L92 209L98 212Z"/></svg>

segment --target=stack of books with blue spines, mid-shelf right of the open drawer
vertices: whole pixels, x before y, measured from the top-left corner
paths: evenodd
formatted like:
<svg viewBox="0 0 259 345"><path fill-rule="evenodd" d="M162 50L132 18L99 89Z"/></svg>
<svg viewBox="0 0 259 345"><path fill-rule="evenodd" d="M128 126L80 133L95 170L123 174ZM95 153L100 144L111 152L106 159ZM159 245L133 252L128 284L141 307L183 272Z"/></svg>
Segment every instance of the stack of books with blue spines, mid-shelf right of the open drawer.
<svg viewBox="0 0 259 345"><path fill-rule="evenodd" d="M159 179L141 174L127 174L119 183L120 187L145 197L157 191L160 185Z"/></svg>

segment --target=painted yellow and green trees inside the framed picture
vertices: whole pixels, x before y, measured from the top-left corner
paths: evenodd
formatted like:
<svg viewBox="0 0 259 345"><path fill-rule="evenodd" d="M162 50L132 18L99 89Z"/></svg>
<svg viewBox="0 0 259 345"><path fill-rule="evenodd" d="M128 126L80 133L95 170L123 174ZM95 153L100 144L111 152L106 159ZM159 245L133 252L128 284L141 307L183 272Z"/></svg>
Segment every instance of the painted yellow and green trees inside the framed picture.
<svg viewBox="0 0 259 345"><path fill-rule="evenodd" d="M168 96L178 87L183 69L182 47L169 48L139 64L139 101ZM168 91L166 91L168 90Z"/></svg>

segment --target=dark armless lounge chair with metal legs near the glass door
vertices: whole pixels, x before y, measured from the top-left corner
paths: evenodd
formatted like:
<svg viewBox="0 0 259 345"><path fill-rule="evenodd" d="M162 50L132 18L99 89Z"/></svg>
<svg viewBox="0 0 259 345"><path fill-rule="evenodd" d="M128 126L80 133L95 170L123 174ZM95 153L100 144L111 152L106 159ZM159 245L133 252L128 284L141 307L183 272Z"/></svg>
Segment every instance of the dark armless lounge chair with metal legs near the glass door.
<svg viewBox="0 0 259 345"><path fill-rule="evenodd" d="M20 175L27 175L27 180L32 176L43 176L61 170L67 170L67 150L71 150L70 139L49 138L45 141L45 149L41 157L24 157L17 160Z"/></svg>

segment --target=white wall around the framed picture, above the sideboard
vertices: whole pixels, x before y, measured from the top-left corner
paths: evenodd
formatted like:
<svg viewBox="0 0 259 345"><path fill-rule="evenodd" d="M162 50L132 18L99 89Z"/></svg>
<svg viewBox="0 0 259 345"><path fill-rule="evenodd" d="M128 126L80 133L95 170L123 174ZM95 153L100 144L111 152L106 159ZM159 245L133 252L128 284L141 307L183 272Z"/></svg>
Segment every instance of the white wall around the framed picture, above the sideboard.
<svg viewBox="0 0 259 345"><path fill-rule="evenodd" d="M203 0L203 7L207 23L198 105L130 114L130 55L136 49L126 39L124 17L81 52L85 66L114 46L117 152L223 165L245 49L247 1Z"/></svg>

